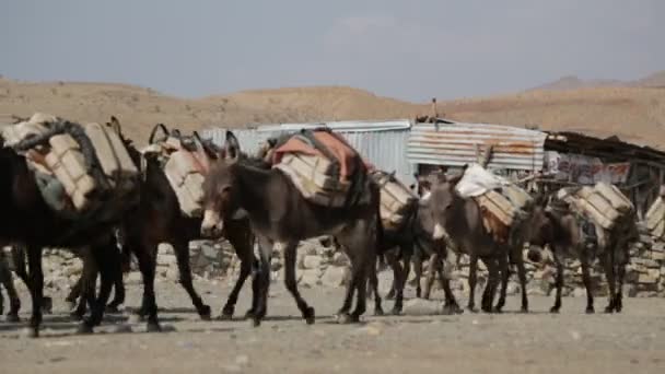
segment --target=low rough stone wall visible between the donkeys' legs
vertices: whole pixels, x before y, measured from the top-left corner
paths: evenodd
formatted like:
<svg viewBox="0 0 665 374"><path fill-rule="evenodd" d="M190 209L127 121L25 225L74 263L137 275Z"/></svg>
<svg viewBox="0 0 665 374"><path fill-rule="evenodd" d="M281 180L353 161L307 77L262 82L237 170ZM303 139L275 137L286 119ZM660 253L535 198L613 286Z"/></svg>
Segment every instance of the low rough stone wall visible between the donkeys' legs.
<svg viewBox="0 0 665 374"><path fill-rule="evenodd" d="M8 250L8 249L5 249ZM195 279L210 280L224 279L229 283L235 282L240 271L240 260L228 242L212 244L210 242L192 242L189 248L190 265ZM627 269L625 294L628 296L665 296L665 243L653 242L649 236L642 236L630 249L631 260ZM457 261L459 268L453 272L453 288L457 293L468 293L468 265L467 256ZM538 266L526 262L529 294L549 294L555 283L555 268L550 265ZM62 249L46 249L44 256L45 287L47 289L69 290L81 273L82 264L71 252ZM479 282L482 288L487 279L487 271L479 262ZM520 292L520 284L512 269L513 276L509 285L509 293ZM582 271L578 260L568 260L565 264L564 295L585 295L582 283ZM298 249L298 281L301 287L341 287L349 278L349 260L345 254L337 252L329 239L314 238L303 242ZM158 281L178 281L179 272L176 256L168 245L161 245L158 256ZM273 281L283 281L281 254L276 254L271 264L271 278ZM138 272L136 260L132 260L132 271L126 276L128 284L140 284L141 276ZM390 271L380 274L381 290L387 292L390 287ZM596 260L592 268L592 280L597 295L606 294L606 282L603 268ZM423 281L423 280L421 280ZM411 272L409 283L416 285L415 274ZM434 283L436 289L436 282Z"/></svg>

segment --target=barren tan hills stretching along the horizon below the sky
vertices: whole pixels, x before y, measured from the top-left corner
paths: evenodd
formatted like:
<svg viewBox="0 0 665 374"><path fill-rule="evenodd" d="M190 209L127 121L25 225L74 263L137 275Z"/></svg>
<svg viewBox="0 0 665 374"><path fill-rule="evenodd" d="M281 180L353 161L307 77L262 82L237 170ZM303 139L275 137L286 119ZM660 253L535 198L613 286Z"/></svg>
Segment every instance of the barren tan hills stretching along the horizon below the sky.
<svg viewBox="0 0 665 374"><path fill-rule="evenodd" d="M465 121L537 125L600 137L618 135L665 149L661 145L665 145L663 80L665 73L656 73L621 86L455 100L440 103L439 113ZM104 121L116 115L126 132L142 143L156 122L191 130L267 122L412 118L429 114L430 106L342 86L246 91L187 100L127 84L0 79L0 120L34 112L79 121Z"/></svg>

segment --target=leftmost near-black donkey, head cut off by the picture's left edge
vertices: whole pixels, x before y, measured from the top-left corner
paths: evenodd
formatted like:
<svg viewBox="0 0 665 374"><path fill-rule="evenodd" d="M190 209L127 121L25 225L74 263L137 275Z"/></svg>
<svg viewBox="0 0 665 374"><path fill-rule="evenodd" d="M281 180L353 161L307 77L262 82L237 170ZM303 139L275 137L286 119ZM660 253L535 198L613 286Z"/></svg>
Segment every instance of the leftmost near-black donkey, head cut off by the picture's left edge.
<svg viewBox="0 0 665 374"><path fill-rule="evenodd" d="M79 137L79 128L71 122L60 120L57 130L72 131ZM30 143L47 141L48 137L31 138ZM2 144L3 145L3 144ZM18 148L32 148L22 142ZM92 149L82 147L85 153ZM91 155L94 160L94 155ZM116 214L105 219L88 219L75 221L58 215L44 201L34 174L28 170L25 159L12 148L0 148L0 243L20 243L25 245L30 269L30 290L33 301L30 320L31 336L38 336L42 325L42 302L44 273L42 269L43 247L90 247L85 250L92 264L96 264L102 279L98 297L95 300L91 316L84 319L79 328L81 332L90 332L102 322L104 306L110 293L115 267L104 266L119 260L117 250L113 247L112 230L118 223L130 206L116 207ZM116 203L117 202L108 202Z"/></svg>

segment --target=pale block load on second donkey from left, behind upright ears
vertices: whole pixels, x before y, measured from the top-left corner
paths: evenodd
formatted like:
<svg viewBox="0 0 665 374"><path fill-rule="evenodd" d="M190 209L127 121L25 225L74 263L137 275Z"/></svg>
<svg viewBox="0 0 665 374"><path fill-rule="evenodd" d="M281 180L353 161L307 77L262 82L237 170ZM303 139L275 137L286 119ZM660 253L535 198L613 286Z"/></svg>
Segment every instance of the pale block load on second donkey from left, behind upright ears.
<svg viewBox="0 0 665 374"><path fill-rule="evenodd" d="M162 137L155 139L158 130L162 131ZM196 131L184 136L178 130L168 131L163 124L152 129L149 143L141 153L154 157L164 170L180 212L189 218L202 217L203 179L218 150Z"/></svg>

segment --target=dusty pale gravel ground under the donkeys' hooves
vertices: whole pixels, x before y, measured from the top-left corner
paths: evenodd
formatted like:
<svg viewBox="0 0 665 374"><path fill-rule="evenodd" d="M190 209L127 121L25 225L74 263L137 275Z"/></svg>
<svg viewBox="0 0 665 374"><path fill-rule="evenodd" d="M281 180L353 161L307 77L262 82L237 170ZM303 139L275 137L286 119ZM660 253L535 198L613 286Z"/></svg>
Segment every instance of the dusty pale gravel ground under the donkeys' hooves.
<svg viewBox="0 0 665 374"><path fill-rule="evenodd" d="M197 285L219 311L229 287L210 281ZM22 337L23 325L0 323L2 373L625 374L665 369L663 299L628 299L620 315L584 315L583 297L565 297L562 313L550 315L544 311L551 300L532 296L533 313L523 315L513 312L513 296L503 315L366 316L362 325L340 326L331 315L342 290L319 287L303 290L318 316L307 326L288 292L273 283L270 318L253 328L244 320L200 322L174 282L158 283L156 291L170 332L145 334L143 324L116 315L93 336L73 335L75 325L68 319L61 294L55 295L56 311L46 317L40 339ZM247 296L244 290L236 314L246 309ZM23 301L30 305L25 294ZM135 285L127 304L139 301ZM598 299L597 308L604 303Z"/></svg>

